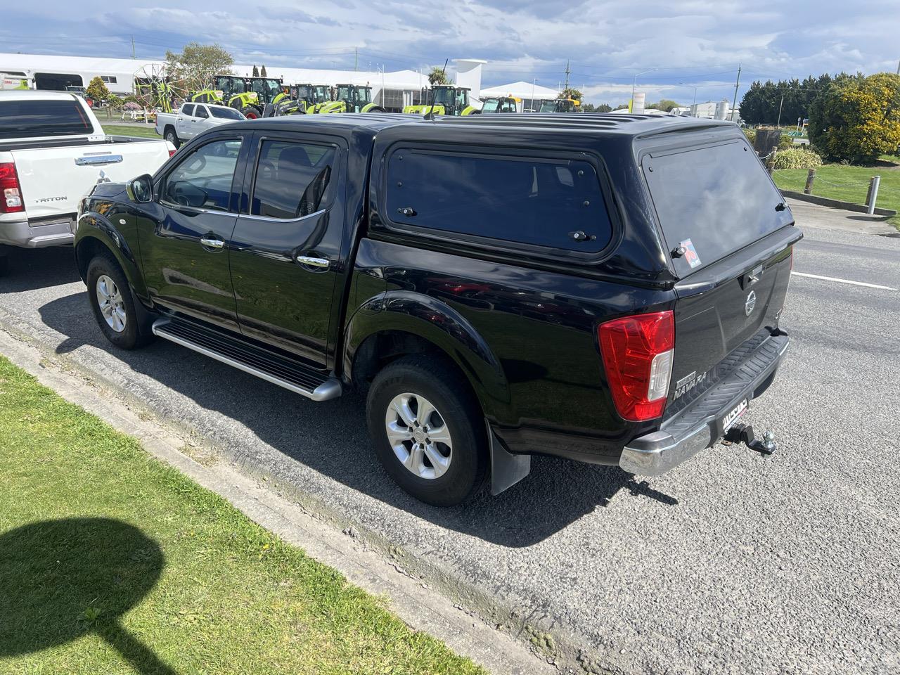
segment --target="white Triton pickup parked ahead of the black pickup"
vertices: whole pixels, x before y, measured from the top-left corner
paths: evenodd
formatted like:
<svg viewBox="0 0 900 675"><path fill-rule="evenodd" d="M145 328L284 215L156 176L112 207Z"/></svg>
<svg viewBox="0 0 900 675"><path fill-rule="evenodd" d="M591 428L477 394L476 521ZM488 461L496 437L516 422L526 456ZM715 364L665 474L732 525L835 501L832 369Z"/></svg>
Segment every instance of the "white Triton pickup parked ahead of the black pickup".
<svg viewBox="0 0 900 675"><path fill-rule="evenodd" d="M106 136L76 94L0 92L0 274L9 247L70 244L94 184L152 174L173 153L163 139Z"/></svg>

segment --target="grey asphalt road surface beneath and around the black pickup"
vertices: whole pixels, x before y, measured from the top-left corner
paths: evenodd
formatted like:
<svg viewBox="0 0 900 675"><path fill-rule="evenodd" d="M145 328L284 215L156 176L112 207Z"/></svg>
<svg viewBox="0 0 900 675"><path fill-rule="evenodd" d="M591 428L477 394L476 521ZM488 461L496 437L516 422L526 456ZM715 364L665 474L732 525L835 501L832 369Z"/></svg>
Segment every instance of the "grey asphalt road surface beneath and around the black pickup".
<svg viewBox="0 0 900 675"><path fill-rule="evenodd" d="M716 446L644 485L536 458L526 481L456 509L392 485L354 397L312 403L164 342L107 345L68 250L23 254L0 279L0 323L609 670L900 673L900 239L807 227L794 269L888 289L794 277L788 362L748 413L776 455Z"/></svg>

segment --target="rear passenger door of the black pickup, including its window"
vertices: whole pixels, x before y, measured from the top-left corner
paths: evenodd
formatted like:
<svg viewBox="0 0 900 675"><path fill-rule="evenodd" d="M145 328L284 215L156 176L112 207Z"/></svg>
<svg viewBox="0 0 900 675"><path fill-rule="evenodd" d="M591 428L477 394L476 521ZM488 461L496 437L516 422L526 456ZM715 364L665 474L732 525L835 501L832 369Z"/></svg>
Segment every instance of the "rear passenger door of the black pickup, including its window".
<svg viewBox="0 0 900 675"><path fill-rule="evenodd" d="M337 137L260 135L249 212L230 244L241 331L322 369L337 304L345 149Z"/></svg>

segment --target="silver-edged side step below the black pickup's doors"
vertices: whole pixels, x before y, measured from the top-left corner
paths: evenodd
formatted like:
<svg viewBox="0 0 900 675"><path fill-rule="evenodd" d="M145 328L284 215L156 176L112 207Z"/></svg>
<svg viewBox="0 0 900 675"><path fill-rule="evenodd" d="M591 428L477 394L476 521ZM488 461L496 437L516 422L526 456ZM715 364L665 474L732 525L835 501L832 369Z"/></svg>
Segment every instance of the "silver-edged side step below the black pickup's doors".
<svg viewBox="0 0 900 675"><path fill-rule="evenodd" d="M176 345L193 349L223 364L256 375L279 387L299 393L312 401L337 399L342 393L341 384L295 361L281 356L248 340L224 335L191 321L157 319L153 322L153 334L171 340Z"/></svg>

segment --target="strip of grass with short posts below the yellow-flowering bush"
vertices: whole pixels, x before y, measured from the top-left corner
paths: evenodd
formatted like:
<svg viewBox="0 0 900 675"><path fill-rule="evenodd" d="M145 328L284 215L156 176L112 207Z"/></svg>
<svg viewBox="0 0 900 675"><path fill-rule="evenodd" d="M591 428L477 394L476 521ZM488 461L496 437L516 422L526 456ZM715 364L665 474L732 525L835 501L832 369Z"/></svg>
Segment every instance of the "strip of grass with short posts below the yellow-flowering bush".
<svg viewBox="0 0 900 675"><path fill-rule="evenodd" d="M802 193L806 185L806 169L780 169L772 177L782 190ZM883 155L878 166L846 166L826 164L815 172L813 194L863 204L869 193L869 179L881 176L876 205L900 211L900 157ZM900 216L888 220L900 229Z"/></svg>

